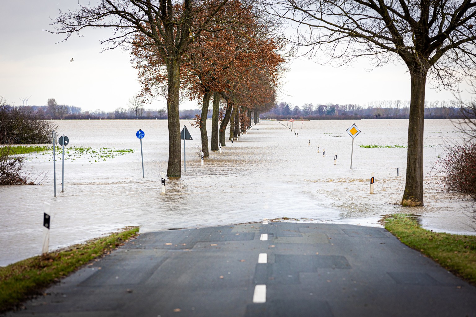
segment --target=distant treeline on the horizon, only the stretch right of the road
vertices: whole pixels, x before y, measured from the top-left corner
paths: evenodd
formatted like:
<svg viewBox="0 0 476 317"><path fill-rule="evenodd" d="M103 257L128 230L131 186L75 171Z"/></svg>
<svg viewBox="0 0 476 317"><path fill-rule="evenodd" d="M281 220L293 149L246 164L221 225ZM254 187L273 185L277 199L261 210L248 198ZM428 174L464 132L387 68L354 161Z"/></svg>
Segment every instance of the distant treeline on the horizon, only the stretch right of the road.
<svg viewBox="0 0 476 317"><path fill-rule="evenodd" d="M425 103L427 119L458 119L463 118L462 104L458 101L432 101ZM402 100L384 100L360 105L326 105L304 104L302 108L286 102L277 104L261 118L287 119L408 119L410 102Z"/></svg>

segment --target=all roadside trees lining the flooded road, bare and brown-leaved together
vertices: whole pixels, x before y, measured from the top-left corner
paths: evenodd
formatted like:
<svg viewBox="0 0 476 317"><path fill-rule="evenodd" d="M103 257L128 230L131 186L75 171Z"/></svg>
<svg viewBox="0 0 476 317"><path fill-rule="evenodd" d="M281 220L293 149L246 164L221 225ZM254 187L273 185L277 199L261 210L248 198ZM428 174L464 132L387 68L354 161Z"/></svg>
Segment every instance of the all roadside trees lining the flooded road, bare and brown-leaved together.
<svg viewBox="0 0 476 317"><path fill-rule="evenodd" d="M319 61L375 66L404 63L410 73L407 180L402 204L423 205L423 124L427 79L454 89L475 71L476 2L472 0L99 0L60 12L51 32L64 39L109 28L108 48L129 49L141 97L167 100L168 176L180 176L180 92L200 98L196 123L208 155L205 121L213 100L211 150L225 145L251 111L274 106L289 44ZM279 36L288 22L294 34ZM288 34L289 32L284 32ZM299 51L298 51L299 52ZM219 111L220 99L227 103ZM220 121L221 120L221 121Z"/></svg>

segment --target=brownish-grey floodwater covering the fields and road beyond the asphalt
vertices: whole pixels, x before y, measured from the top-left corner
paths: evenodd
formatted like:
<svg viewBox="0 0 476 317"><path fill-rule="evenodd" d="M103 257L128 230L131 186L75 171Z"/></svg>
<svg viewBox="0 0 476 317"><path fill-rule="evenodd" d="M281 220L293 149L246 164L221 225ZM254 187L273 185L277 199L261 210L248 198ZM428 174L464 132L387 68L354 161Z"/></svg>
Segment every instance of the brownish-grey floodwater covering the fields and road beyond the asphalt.
<svg viewBox="0 0 476 317"><path fill-rule="evenodd" d="M362 132L354 139L351 170L352 139L346 130L354 123ZM194 140L186 142L187 172L183 171L182 152L182 177L166 180L166 194L161 194L160 172L167 170L167 121L57 124L58 135L69 137L67 149L86 146L136 151L106 161L87 154L67 154L64 192L61 156L57 154L56 198L52 154L30 155L26 169L46 171L46 182L38 186L0 186L0 265L40 253L44 202L51 205L50 250L125 226L140 226L144 232L279 217L379 226L377 221L383 215L395 212L420 215L423 226L435 231L475 232L468 216L473 211L471 201L442 192L428 176L443 152L445 139L461 138L450 120L425 121L425 206L418 208L398 205L405 186L407 149L359 147L406 145L407 120L297 120L293 127L298 135L285 127L285 121L261 120L237 142L227 141L221 154L210 151L204 166L198 155L199 129L182 120ZM145 178L136 137L139 129L145 132ZM208 131L211 134L210 126ZM374 194L369 193L372 172Z"/></svg>

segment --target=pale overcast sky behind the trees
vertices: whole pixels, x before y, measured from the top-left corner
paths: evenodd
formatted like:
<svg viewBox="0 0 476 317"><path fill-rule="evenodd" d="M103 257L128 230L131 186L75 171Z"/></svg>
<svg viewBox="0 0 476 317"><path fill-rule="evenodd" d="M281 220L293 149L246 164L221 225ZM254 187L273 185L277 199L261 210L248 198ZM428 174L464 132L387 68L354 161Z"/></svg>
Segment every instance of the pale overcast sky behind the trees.
<svg viewBox="0 0 476 317"><path fill-rule="evenodd" d="M87 1L89 2L89 1ZM91 4L94 0L90 1ZM29 105L46 105L48 98L82 110L112 111L127 108L128 100L140 90L137 71L129 53L121 49L103 51L99 40L108 30L90 29L83 37L66 42L50 34L50 25L60 10L75 10L78 0L0 0L0 96L15 105L28 98ZM73 62L70 59L74 58ZM282 86L288 96L279 101L302 106L305 103L360 104L377 100L409 100L410 77L403 65L372 67L363 59L352 67L321 66L311 60L294 60ZM461 96L469 98L467 86ZM426 90L426 100L450 100L450 92ZM183 102L180 109L198 107ZM156 101L146 108L164 107Z"/></svg>

